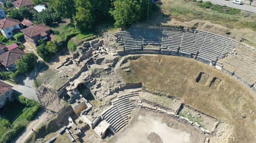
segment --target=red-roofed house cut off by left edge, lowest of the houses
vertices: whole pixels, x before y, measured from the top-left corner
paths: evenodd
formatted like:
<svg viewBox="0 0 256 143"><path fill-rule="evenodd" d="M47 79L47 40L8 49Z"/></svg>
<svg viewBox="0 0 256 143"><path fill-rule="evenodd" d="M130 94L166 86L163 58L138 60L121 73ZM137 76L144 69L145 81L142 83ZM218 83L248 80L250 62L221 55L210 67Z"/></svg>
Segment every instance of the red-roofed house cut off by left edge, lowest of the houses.
<svg viewBox="0 0 256 143"><path fill-rule="evenodd" d="M13 97L12 93L12 86L0 81L0 108L5 105L6 101L14 101L15 98Z"/></svg>

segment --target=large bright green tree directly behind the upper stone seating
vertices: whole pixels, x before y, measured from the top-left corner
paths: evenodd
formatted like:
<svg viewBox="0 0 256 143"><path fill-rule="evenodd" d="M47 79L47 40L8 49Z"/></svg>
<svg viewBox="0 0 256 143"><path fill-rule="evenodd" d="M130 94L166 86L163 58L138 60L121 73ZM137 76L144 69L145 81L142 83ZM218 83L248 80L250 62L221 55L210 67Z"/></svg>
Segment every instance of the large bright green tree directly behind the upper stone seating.
<svg viewBox="0 0 256 143"><path fill-rule="evenodd" d="M115 19L116 27L129 26L134 22L141 20L147 16L151 10L151 0L116 0L114 1L114 9L110 11Z"/></svg>

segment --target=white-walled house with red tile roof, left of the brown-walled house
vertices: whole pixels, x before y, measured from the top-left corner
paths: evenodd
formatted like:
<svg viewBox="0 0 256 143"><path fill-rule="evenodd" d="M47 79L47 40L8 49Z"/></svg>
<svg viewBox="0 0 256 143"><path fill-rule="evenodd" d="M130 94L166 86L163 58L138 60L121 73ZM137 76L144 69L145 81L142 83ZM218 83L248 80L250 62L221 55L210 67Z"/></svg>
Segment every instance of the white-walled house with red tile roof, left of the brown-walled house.
<svg viewBox="0 0 256 143"><path fill-rule="evenodd" d="M22 29L19 20L4 18L0 20L0 31L7 39L12 38L17 30Z"/></svg>

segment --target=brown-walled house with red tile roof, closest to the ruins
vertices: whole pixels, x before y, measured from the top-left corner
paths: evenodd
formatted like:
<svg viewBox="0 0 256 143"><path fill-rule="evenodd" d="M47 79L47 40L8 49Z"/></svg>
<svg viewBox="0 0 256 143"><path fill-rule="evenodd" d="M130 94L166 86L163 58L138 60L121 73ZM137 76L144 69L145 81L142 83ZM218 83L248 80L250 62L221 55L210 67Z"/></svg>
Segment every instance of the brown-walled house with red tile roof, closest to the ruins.
<svg viewBox="0 0 256 143"><path fill-rule="evenodd" d="M27 42L37 45L39 39L50 40L51 32L50 27L44 24L37 24L25 29L20 30L24 33L24 38Z"/></svg>

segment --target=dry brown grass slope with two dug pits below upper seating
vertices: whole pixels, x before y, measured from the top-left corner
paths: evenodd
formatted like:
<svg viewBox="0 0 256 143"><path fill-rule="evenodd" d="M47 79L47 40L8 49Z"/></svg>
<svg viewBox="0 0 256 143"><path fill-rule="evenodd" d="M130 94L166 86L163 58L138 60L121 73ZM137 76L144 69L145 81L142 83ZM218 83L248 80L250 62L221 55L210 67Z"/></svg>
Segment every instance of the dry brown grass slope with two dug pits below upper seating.
<svg viewBox="0 0 256 143"><path fill-rule="evenodd" d="M184 103L232 124L231 136L238 142L255 141L253 121L256 115L249 112L256 109L255 93L231 76L192 59L166 55L142 56L131 60L130 66L131 73L120 69L127 82L142 82L153 92L161 90L166 95L176 96ZM197 83L200 72L210 77ZM214 77L221 81L209 87ZM245 119L241 119L242 114L246 115Z"/></svg>

